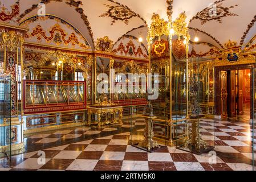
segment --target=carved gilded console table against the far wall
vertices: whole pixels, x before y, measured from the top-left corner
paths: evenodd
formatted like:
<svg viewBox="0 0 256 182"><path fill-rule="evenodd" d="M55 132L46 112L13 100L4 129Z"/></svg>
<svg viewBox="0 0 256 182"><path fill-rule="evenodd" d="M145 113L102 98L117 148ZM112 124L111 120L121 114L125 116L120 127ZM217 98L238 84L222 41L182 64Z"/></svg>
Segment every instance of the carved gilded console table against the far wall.
<svg viewBox="0 0 256 182"><path fill-rule="evenodd" d="M108 119L108 113L111 114L110 120ZM123 118L123 107L122 106L90 106L88 107L88 125L91 125L92 114L97 115L96 123L97 126L104 126L108 124L120 123L122 124ZM119 114L116 119L116 114ZM101 118L105 115L105 121L101 121Z"/></svg>

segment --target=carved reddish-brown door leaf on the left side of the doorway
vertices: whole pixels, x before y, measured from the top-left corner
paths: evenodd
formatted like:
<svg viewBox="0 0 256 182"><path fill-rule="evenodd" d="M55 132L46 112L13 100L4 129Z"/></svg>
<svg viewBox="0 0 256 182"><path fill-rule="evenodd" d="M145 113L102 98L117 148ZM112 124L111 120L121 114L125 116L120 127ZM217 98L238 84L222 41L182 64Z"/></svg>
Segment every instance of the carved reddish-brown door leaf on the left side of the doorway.
<svg viewBox="0 0 256 182"><path fill-rule="evenodd" d="M227 117L227 72L221 71L221 117Z"/></svg>

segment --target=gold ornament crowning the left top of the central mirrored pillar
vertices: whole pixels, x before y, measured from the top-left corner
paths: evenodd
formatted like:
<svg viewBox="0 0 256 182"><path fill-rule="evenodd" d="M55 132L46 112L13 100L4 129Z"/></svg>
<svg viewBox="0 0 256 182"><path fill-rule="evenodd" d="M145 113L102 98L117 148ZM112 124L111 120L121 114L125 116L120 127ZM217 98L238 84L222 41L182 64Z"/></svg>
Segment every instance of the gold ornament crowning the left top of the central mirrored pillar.
<svg viewBox="0 0 256 182"><path fill-rule="evenodd" d="M169 25L164 19L160 19L159 14L153 14L152 23L149 30L151 38L161 37L162 35L169 35Z"/></svg>

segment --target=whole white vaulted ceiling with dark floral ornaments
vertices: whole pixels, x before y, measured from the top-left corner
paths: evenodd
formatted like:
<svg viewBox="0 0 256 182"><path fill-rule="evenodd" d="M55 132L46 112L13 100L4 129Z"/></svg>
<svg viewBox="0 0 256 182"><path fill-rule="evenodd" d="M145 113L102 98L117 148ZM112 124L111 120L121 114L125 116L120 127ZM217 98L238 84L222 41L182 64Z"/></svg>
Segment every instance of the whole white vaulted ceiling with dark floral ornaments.
<svg viewBox="0 0 256 182"><path fill-rule="evenodd" d="M72 24L92 48L97 38L108 36L115 43L123 35L139 34L147 47L153 13L175 20L185 11L192 42L198 35L200 42L217 48L225 48L229 39L244 48L256 34L255 0L20 0L20 22L37 15L40 2L46 14Z"/></svg>

